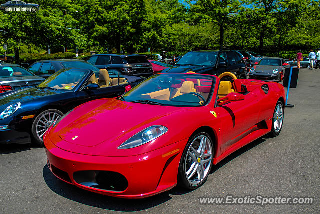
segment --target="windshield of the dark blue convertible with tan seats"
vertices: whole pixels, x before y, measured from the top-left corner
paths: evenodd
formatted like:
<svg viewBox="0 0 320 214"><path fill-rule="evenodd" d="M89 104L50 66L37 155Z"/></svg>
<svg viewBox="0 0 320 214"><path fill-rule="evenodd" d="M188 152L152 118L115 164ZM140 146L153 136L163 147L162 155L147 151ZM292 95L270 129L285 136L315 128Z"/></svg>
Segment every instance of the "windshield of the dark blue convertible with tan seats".
<svg viewBox="0 0 320 214"><path fill-rule="evenodd" d="M62 69L40 83L38 87L74 90L74 88L85 78L85 76L87 76L89 72L89 70L84 69Z"/></svg>

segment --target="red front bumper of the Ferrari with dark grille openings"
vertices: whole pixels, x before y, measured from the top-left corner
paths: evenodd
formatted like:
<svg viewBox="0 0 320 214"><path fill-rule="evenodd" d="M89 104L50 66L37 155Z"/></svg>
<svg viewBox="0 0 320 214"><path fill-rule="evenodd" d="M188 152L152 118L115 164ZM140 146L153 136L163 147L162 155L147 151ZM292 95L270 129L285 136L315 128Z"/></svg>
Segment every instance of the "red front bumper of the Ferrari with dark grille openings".
<svg viewBox="0 0 320 214"><path fill-rule="evenodd" d="M45 152L51 172L65 182L104 195L143 198L177 184L178 166L186 143L187 139L184 139L136 156L111 157L68 152L56 147L46 136ZM97 179L98 174L106 175L104 185L96 181L101 180ZM110 179L110 176L113 177ZM117 188L122 181L122 189Z"/></svg>

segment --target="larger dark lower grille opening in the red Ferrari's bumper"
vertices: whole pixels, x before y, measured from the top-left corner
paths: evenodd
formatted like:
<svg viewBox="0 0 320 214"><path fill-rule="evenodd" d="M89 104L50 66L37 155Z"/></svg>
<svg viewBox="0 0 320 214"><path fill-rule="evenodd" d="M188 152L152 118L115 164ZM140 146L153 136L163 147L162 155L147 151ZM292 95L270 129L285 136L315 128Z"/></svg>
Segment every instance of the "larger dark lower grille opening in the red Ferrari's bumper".
<svg viewBox="0 0 320 214"><path fill-rule="evenodd" d="M78 171L73 179L78 184L108 191L124 191L128 187L127 179L113 171Z"/></svg>

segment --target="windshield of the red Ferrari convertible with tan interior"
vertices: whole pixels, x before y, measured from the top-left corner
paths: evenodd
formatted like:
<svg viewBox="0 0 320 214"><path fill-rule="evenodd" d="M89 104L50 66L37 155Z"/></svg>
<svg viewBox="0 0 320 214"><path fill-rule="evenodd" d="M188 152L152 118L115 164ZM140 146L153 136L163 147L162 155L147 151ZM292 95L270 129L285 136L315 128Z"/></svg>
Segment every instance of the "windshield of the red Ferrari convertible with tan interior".
<svg viewBox="0 0 320 214"><path fill-rule="evenodd" d="M203 106L215 77L201 74L157 74L119 97L126 102L166 106Z"/></svg>

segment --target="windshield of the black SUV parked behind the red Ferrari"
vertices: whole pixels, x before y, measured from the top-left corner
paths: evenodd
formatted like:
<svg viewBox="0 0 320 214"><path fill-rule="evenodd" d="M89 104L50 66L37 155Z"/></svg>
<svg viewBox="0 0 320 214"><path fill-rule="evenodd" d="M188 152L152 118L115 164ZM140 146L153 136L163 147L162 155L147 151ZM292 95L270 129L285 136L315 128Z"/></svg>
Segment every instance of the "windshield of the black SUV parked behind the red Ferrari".
<svg viewBox="0 0 320 214"><path fill-rule="evenodd" d="M215 64L217 52L192 52L187 53L176 63L176 65L200 65L212 66Z"/></svg>

